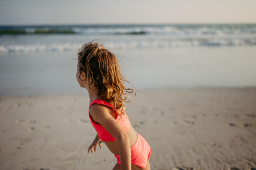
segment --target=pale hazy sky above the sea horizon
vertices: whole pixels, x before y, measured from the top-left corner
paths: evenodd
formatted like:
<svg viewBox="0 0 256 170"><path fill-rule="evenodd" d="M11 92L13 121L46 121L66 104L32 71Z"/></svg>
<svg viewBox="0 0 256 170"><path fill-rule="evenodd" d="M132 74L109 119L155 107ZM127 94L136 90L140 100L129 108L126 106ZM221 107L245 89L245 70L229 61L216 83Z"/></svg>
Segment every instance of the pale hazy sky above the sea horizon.
<svg viewBox="0 0 256 170"><path fill-rule="evenodd" d="M256 0L0 0L0 25L256 23Z"/></svg>

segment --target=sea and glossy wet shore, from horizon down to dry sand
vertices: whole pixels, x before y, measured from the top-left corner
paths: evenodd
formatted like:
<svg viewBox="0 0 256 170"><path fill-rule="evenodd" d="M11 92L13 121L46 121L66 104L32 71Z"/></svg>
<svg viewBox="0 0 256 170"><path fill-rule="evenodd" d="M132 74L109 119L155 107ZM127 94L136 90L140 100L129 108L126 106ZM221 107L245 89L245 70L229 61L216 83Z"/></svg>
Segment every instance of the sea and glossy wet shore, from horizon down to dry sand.
<svg viewBox="0 0 256 170"><path fill-rule="evenodd" d="M94 39L136 89L256 86L256 24L1 26L0 96L86 94L72 59Z"/></svg>

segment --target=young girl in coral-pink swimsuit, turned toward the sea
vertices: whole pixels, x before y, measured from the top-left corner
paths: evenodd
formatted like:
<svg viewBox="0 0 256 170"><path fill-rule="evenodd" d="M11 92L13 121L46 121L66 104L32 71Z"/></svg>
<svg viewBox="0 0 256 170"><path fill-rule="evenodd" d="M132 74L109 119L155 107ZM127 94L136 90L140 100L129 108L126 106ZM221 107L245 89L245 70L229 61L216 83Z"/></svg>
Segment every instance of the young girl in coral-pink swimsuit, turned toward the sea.
<svg viewBox="0 0 256 170"><path fill-rule="evenodd" d="M128 81L114 54L96 42L84 44L78 53L76 79L89 93L89 118L97 132L88 153L96 152L98 144L102 148L104 142L117 159L113 170L150 170L151 148L126 116L125 92L135 91L124 87Z"/></svg>

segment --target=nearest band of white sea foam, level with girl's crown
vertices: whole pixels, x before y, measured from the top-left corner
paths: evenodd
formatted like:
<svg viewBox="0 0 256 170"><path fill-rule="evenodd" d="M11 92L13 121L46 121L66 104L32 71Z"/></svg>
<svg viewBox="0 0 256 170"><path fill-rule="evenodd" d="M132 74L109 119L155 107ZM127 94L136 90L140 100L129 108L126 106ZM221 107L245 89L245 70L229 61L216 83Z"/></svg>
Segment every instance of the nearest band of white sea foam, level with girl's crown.
<svg viewBox="0 0 256 170"><path fill-rule="evenodd" d="M32 52L32 51L70 51L81 48L81 43L37 43L37 44L16 44L0 45L0 52ZM133 48L177 48L196 46L243 46L256 45L256 38L247 39L192 39L192 40L134 40L134 41L109 41L104 46L115 49Z"/></svg>

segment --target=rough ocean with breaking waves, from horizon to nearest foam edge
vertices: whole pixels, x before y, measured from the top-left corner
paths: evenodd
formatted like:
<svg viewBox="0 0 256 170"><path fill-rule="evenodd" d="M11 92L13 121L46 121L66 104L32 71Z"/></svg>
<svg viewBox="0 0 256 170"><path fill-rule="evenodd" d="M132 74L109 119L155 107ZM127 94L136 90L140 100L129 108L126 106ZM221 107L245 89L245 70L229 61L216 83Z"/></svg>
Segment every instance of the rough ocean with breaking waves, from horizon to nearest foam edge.
<svg viewBox="0 0 256 170"><path fill-rule="evenodd" d="M256 24L0 26L0 35L0 52L70 51L94 39L115 49L251 46Z"/></svg>

